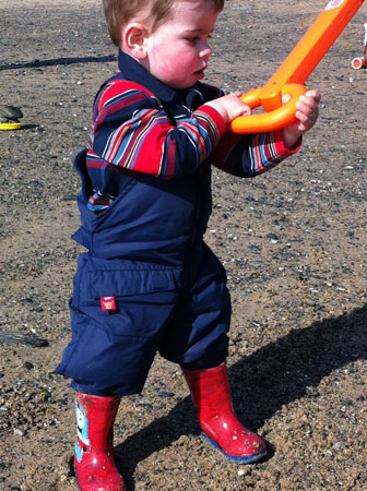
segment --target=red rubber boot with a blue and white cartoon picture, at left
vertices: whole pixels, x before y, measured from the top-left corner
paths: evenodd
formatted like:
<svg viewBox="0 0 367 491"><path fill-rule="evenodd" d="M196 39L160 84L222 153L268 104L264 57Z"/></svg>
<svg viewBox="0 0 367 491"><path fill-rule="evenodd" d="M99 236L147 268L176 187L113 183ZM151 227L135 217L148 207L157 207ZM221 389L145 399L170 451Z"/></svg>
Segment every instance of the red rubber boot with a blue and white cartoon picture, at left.
<svg viewBox="0 0 367 491"><path fill-rule="evenodd" d="M80 491L123 491L114 459L114 421L120 396L76 393L74 465Z"/></svg>

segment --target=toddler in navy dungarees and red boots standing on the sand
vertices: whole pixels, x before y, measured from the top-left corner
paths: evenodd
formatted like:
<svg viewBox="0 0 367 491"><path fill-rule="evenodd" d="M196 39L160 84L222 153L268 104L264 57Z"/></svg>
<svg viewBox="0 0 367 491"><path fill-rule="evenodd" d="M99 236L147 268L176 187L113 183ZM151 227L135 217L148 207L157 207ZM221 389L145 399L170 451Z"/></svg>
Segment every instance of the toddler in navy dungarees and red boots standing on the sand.
<svg viewBox="0 0 367 491"><path fill-rule="evenodd" d="M265 455L236 418L226 358L225 271L203 241L211 167L253 177L299 149L320 96L297 122L269 133L226 132L249 115L239 93L200 81L224 0L104 0L119 72L99 89L90 141L75 158L81 228L70 301L72 340L57 372L76 392L81 491L121 491L113 427L123 395L139 394L158 351L178 363L204 438L229 460Z"/></svg>

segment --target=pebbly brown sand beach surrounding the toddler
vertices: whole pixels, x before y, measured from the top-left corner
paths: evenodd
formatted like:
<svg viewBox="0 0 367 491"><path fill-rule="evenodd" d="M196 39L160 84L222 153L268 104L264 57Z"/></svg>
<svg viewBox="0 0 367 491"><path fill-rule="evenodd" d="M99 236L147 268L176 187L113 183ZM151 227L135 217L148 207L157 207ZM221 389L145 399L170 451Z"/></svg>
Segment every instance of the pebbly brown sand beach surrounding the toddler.
<svg viewBox="0 0 367 491"><path fill-rule="evenodd" d="M0 131L0 333L21 335L0 334L4 491L76 490L73 392L54 370L82 252L70 239L73 158L95 93L117 71L100 3L0 2L0 106L24 113L21 130ZM227 1L205 81L264 85L325 3ZM128 491L367 489L367 70L351 67L364 22L365 5L308 79L322 104L297 155L256 179L213 172L205 239L233 298L234 407L268 457L238 466L212 450L179 368L156 357L116 421Z"/></svg>

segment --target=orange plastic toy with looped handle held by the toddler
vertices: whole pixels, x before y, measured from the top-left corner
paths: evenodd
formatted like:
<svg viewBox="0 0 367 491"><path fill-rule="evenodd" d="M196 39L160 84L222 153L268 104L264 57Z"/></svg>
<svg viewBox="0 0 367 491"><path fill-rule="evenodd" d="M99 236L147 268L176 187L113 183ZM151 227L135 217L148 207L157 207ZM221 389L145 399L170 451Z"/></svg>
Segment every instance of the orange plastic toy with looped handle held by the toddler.
<svg viewBox="0 0 367 491"><path fill-rule="evenodd" d="M299 96L307 92L304 82L363 2L364 0L330 0L267 85L241 96L241 100L251 109L262 106L267 112L236 118L228 125L229 131L272 131L295 121L296 103ZM289 94L292 98L282 106L284 94Z"/></svg>

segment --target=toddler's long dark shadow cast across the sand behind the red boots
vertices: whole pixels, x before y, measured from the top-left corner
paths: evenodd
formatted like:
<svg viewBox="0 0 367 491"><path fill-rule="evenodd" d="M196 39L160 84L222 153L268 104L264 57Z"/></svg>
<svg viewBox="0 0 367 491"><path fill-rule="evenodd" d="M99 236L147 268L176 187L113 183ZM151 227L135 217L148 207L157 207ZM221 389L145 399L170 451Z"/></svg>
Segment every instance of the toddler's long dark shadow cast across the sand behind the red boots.
<svg viewBox="0 0 367 491"><path fill-rule="evenodd" d="M339 319L293 331L233 364L229 378L238 419L256 431L283 405L307 393L317 396L324 376L350 362L366 359L366 324L367 306ZM129 491L135 489L131 476L138 463L182 434L199 434L190 397L116 447L117 463Z"/></svg>

